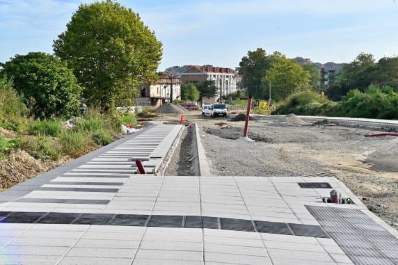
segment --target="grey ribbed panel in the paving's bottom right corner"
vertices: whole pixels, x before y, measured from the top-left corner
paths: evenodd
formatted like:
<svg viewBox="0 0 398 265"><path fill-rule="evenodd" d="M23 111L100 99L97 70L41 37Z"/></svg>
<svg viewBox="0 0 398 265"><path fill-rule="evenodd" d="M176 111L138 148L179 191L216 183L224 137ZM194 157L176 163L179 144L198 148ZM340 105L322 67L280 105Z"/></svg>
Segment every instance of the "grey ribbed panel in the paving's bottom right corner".
<svg viewBox="0 0 398 265"><path fill-rule="evenodd" d="M354 264L398 264L398 239L362 211L305 207Z"/></svg>

